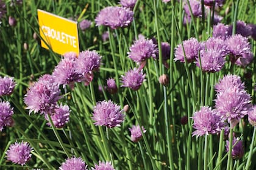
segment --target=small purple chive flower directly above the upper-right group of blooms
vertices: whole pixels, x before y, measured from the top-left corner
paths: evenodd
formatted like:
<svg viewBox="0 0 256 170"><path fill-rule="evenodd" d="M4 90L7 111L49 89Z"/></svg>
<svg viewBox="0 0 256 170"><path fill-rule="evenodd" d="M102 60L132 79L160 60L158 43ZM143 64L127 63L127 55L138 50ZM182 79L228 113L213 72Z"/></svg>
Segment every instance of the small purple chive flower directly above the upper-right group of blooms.
<svg viewBox="0 0 256 170"><path fill-rule="evenodd" d="M217 25L213 25L213 37L226 39L228 36L231 35L228 25L224 25L219 23Z"/></svg>

